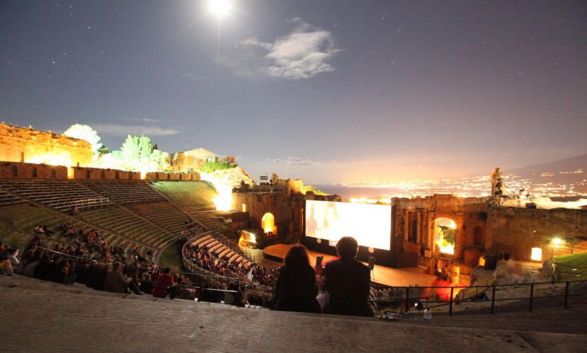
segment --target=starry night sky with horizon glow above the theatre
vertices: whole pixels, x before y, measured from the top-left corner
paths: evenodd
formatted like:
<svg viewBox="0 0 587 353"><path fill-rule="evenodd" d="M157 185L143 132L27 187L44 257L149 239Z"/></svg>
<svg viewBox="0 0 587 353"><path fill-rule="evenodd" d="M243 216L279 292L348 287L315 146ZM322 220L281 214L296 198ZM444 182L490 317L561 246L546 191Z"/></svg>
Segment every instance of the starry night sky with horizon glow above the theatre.
<svg viewBox="0 0 587 353"><path fill-rule="evenodd" d="M586 1L0 1L0 121L305 183L587 152Z"/></svg>

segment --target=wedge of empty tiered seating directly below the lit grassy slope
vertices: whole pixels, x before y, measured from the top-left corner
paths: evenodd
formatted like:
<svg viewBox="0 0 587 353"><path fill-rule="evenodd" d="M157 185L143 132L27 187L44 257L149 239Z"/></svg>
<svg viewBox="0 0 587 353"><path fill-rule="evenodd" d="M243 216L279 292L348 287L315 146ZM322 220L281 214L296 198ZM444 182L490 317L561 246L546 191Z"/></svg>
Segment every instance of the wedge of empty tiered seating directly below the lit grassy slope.
<svg viewBox="0 0 587 353"><path fill-rule="evenodd" d="M152 202L148 204L127 205L132 212L144 216L149 221L162 226L171 233L180 234L186 229L185 221L189 216L170 202ZM197 231L197 229L196 229Z"/></svg>

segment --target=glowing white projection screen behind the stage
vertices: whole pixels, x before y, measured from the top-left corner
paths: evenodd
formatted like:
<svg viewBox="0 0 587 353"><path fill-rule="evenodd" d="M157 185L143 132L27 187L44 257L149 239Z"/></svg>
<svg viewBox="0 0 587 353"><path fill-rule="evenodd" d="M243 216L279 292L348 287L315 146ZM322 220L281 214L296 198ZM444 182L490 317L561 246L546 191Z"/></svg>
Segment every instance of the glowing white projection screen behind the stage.
<svg viewBox="0 0 587 353"><path fill-rule="evenodd" d="M359 245L390 250L391 206L306 201L306 236L335 245L351 236Z"/></svg>

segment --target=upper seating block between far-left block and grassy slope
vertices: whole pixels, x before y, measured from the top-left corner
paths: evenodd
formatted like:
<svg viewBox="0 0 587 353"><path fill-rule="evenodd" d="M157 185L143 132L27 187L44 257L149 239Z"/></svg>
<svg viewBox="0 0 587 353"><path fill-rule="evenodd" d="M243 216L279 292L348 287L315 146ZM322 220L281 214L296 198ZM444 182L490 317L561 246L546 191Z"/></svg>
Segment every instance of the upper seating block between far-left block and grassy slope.
<svg viewBox="0 0 587 353"><path fill-rule="evenodd" d="M146 180L84 180L83 183L119 204L165 201Z"/></svg>

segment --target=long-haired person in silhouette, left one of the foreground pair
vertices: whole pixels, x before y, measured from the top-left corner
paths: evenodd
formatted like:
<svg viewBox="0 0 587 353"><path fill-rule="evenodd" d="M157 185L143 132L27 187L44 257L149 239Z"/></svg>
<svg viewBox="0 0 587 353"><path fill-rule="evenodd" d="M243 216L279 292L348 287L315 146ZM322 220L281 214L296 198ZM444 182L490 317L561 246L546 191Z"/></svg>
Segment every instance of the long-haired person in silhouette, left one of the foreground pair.
<svg viewBox="0 0 587 353"><path fill-rule="evenodd" d="M316 294L316 272L310 265L308 252L303 245L294 245L289 248L284 265L279 269L275 310L320 313Z"/></svg>

